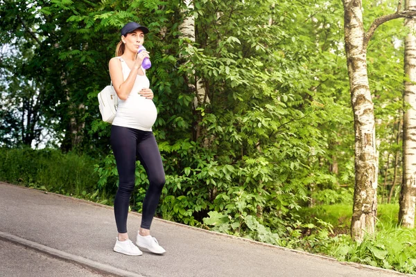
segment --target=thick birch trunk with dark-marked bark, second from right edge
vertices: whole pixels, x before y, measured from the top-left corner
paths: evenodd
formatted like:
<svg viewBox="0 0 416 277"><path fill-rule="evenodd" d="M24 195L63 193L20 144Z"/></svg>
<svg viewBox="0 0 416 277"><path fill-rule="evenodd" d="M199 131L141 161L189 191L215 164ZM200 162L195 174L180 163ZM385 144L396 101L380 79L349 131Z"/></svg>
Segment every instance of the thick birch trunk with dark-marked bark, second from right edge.
<svg viewBox="0 0 416 277"><path fill-rule="evenodd" d="M355 131L355 189L351 235L374 233L377 211L377 157L374 105L367 76L367 39L361 0L344 1L345 52Z"/></svg>

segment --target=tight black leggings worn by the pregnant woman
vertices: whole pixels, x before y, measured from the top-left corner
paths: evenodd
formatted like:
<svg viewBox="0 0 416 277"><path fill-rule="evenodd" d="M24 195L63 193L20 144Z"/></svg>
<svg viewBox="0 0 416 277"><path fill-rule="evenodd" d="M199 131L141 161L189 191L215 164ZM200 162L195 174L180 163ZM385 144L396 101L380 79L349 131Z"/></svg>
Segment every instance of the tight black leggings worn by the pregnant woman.
<svg viewBox="0 0 416 277"><path fill-rule="evenodd" d="M165 183L155 136L153 132L112 125L110 141L119 171L119 189L114 199L117 231L127 233L128 206L135 188L136 160L144 166L150 182L141 216L141 228L150 229Z"/></svg>

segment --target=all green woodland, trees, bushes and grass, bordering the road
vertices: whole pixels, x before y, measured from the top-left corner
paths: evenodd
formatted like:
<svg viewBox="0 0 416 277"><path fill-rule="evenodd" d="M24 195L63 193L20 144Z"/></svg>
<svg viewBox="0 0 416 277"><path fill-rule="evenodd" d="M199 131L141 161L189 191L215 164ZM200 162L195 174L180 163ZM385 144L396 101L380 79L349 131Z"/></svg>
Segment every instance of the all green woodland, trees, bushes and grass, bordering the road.
<svg viewBox="0 0 416 277"><path fill-rule="evenodd" d="M97 95L137 21L166 172L158 217L416 274L412 1L0 0L0 180L113 204ZM136 177L141 212L139 162Z"/></svg>

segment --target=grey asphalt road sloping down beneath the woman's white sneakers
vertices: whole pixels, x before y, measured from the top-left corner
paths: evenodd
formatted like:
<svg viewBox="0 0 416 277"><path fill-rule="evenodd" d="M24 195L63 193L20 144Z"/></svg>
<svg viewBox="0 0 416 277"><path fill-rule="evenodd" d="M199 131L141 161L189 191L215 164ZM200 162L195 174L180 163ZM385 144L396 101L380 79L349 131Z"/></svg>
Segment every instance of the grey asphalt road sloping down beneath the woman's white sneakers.
<svg viewBox="0 0 416 277"><path fill-rule="evenodd" d="M128 231L132 240L135 240L140 220L138 213L129 214ZM172 277L404 276L395 271L338 262L159 219L153 221L152 235L166 249L165 255L144 251L143 256L132 257L115 253L112 251L116 238L112 207L0 183L0 238L101 272L119 276ZM48 270L57 270L60 273L57 276L71 276L64 274L83 270L59 260L49 264L44 254L28 256L31 251L22 253L21 249L16 249L9 253L3 250L3 245L4 242L0 244L0 275L4 270L6 274L21 271L21 275L16 276L24 276L31 268L37 268L31 277L47 276L40 273L46 272L42 271L45 268L42 261L51 265ZM10 266L4 265L2 256L8 257ZM25 266L21 266L23 264ZM75 276L94 275L80 273Z"/></svg>

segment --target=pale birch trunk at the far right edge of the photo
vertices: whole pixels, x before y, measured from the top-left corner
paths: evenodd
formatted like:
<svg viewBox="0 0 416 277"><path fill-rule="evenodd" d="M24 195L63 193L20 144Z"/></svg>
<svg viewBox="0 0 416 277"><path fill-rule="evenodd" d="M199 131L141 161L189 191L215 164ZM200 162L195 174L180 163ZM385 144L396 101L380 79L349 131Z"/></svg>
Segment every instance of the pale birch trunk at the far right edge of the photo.
<svg viewBox="0 0 416 277"><path fill-rule="evenodd" d="M416 0L406 0L405 10L415 10ZM409 109L404 112L403 127L403 181L400 191L399 222L402 226L415 226L416 204L416 20L409 18L404 21L409 29L404 48L404 103Z"/></svg>

